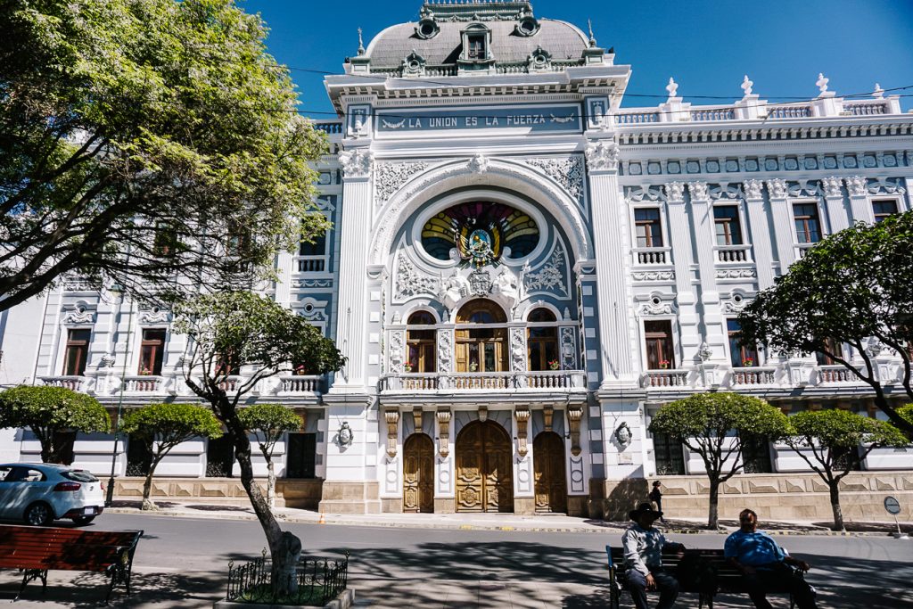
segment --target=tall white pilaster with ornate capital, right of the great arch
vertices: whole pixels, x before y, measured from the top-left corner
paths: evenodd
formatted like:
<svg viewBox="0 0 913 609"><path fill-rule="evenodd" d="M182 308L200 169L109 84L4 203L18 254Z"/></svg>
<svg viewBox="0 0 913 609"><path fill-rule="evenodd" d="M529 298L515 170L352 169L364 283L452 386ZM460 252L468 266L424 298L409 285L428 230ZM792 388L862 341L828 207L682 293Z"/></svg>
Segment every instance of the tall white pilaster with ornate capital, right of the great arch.
<svg viewBox="0 0 913 609"><path fill-rule="evenodd" d="M599 357L603 387L637 382L632 342L631 296L628 285L631 244L628 217L618 185L618 144L591 142L586 149L590 193L593 195L593 240L599 309Z"/></svg>

